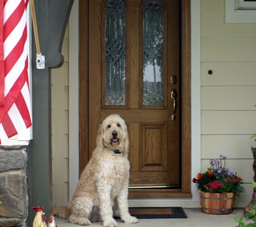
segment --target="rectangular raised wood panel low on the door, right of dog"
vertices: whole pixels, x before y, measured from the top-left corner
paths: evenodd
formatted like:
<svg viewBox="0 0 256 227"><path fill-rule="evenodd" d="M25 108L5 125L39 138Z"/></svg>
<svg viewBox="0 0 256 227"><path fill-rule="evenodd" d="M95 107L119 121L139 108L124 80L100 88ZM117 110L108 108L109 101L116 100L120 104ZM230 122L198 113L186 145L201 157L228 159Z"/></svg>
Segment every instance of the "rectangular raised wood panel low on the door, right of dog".
<svg viewBox="0 0 256 227"><path fill-rule="evenodd" d="M140 171L167 171L167 123L141 123Z"/></svg>

